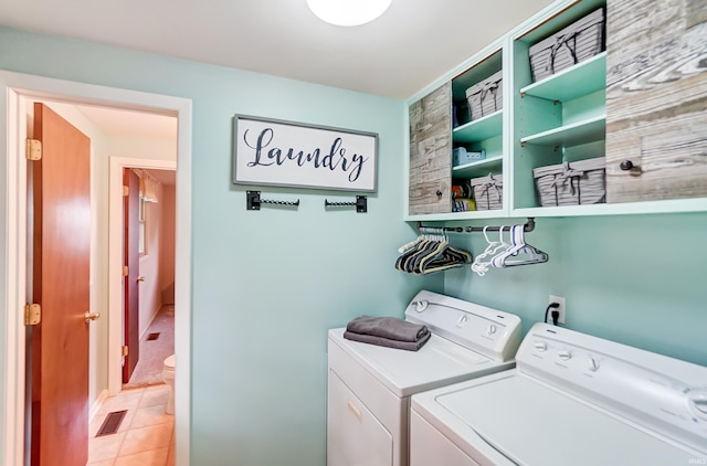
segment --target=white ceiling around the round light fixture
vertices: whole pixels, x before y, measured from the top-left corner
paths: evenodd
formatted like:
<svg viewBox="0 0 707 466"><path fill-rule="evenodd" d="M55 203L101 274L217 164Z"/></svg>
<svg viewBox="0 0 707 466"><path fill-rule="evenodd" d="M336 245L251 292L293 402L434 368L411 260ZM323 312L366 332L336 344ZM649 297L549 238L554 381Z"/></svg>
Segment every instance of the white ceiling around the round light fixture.
<svg viewBox="0 0 707 466"><path fill-rule="evenodd" d="M405 99L551 0L393 0L371 23L305 0L0 0L0 24Z"/></svg>

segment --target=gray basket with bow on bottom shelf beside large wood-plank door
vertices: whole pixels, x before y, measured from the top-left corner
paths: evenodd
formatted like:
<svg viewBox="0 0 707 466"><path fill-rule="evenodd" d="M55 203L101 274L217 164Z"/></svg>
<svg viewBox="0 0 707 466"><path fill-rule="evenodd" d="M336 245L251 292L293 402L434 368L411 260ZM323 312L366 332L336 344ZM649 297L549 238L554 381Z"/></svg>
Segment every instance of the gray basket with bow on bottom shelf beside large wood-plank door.
<svg viewBox="0 0 707 466"><path fill-rule="evenodd" d="M540 205L606 202L604 158L564 162L532 170Z"/></svg>

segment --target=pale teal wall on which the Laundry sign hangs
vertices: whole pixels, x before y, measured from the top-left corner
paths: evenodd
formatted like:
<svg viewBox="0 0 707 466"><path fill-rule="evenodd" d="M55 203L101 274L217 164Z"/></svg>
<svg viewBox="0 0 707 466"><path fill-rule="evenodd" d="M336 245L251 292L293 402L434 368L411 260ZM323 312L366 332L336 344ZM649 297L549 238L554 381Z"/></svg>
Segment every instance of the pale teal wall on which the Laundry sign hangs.
<svg viewBox="0 0 707 466"><path fill-rule="evenodd" d="M401 221L404 103L7 28L0 44L3 70L192 99L191 464L324 465L327 329L402 316L443 286L393 269L415 236ZM284 188L263 198L298 209L247 212L230 181L234 114L377 133L368 213L325 211L355 192Z"/></svg>

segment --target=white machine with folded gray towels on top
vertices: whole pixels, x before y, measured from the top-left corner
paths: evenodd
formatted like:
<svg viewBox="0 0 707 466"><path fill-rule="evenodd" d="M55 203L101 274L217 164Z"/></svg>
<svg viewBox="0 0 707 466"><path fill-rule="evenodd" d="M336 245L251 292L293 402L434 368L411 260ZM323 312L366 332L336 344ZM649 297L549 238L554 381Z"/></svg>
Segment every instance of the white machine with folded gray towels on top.
<svg viewBox="0 0 707 466"><path fill-rule="evenodd" d="M431 292L420 292L405 320L432 336L418 351L328 332L327 465L409 464L410 396L513 368L520 318Z"/></svg>

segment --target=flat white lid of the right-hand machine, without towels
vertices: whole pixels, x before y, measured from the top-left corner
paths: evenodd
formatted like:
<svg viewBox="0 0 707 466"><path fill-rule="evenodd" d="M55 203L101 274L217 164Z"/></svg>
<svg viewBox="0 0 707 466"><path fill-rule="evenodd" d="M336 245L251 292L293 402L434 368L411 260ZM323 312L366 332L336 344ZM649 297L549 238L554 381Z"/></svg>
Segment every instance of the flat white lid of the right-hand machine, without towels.
<svg viewBox="0 0 707 466"><path fill-rule="evenodd" d="M430 413L441 406L464 426L455 433L466 442L485 442L519 465L685 465L696 458L687 447L517 371L474 380L462 390L444 388L425 400Z"/></svg>

